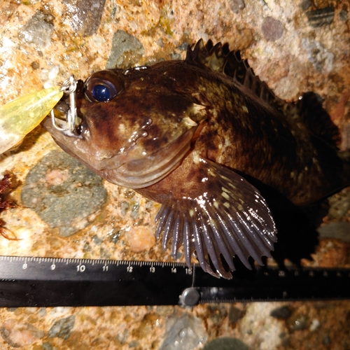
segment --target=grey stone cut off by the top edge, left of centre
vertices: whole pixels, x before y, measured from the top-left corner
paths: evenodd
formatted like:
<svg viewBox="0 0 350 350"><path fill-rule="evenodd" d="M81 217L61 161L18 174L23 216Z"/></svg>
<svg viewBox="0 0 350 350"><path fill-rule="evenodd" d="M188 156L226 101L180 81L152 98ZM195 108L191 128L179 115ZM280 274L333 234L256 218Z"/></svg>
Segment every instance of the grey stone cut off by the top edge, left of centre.
<svg viewBox="0 0 350 350"><path fill-rule="evenodd" d="M73 1L66 0L65 2ZM71 13L71 27L81 36L95 34L101 23L105 2L106 0L78 0L76 11Z"/></svg>

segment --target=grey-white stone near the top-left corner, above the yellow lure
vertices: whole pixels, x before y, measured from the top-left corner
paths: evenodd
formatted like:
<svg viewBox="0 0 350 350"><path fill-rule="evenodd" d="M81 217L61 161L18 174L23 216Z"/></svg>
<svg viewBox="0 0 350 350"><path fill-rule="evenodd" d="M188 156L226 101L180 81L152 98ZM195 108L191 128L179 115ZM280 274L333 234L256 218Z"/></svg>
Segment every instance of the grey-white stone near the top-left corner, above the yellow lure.
<svg viewBox="0 0 350 350"><path fill-rule="evenodd" d="M51 43L53 33L53 17L41 11L36 14L18 31L22 43L32 43L38 48L47 48Z"/></svg>

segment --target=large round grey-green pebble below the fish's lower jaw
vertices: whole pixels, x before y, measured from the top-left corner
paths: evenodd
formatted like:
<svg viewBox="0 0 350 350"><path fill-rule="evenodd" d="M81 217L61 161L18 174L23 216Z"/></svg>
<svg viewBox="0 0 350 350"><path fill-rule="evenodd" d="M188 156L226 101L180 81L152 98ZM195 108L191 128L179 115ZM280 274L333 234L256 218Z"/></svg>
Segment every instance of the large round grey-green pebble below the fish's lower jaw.
<svg viewBox="0 0 350 350"><path fill-rule="evenodd" d="M34 209L50 228L58 228L61 237L85 228L87 217L104 202L102 178L62 151L45 155L30 170L22 189L22 204Z"/></svg>

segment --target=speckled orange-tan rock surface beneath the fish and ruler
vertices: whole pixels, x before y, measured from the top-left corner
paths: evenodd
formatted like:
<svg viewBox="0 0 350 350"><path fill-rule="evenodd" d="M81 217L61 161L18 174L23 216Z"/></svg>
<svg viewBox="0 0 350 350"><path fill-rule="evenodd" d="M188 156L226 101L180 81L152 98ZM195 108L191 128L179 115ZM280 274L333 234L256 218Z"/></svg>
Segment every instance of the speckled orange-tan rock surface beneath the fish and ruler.
<svg viewBox="0 0 350 350"><path fill-rule="evenodd" d="M98 7L90 7L91 3ZM3 1L0 24L1 104L62 83L71 73L85 79L112 58L113 64L125 65L183 58L188 44L211 38L242 50L242 57L279 97L295 100L305 91L318 93L342 130L342 148L350 148L346 1ZM113 47L116 33L127 40L118 37ZM129 44L120 48L120 41ZM131 190L104 182L108 193L104 210L70 237L60 237L58 228L50 228L23 206L21 192L29 170L52 150L57 146L38 127L17 151L0 155L0 174L10 171L15 176L18 187L12 196L19 204L1 218L21 239L0 237L0 255L172 261L154 241L142 250L145 245L132 239L145 232L144 237L152 235L159 206ZM348 193L332 197L325 223L350 222ZM314 262L303 263L349 267L349 243L339 237L323 238L313 257ZM282 319L270 316L279 307L288 307L292 314ZM180 307L1 309L0 347L160 349L177 330L176 322L169 329L167 321L181 320L184 314L200 320L204 339L236 338L248 349L350 346L350 302L342 301L200 305L186 311ZM74 321L66 333L51 337L61 320ZM295 322L300 320L302 327L297 329Z"/></svg>

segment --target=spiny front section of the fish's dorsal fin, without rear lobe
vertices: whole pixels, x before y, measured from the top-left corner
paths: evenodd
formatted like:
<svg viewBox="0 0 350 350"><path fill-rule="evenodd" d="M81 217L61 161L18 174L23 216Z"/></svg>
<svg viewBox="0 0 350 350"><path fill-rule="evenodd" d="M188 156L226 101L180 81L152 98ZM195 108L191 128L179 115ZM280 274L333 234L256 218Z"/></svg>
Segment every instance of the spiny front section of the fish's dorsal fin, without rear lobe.
<svg viewBox="0 0 350 350"><path fill-rule="evenodd" d="M228 44L217 43L213 45L209 40L204 45L203 40L197 41L193 50L188 46L186 62L197 63L209 67L212 71L224 73L230 76L237 84L251 91L255 97L262 99L269 105L281 108L279 100L267 84L255 76L253 69L248 65L246 59L241 59L239 51L230 51Z"/></svg>

